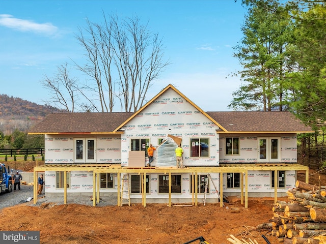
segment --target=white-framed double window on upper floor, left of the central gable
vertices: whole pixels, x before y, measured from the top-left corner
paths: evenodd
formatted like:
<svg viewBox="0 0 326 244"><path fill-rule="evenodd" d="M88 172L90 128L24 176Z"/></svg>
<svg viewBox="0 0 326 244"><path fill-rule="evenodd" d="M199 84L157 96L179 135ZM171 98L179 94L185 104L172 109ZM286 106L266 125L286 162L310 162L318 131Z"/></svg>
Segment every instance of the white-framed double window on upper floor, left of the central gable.
<svg viewBox="0 0 326 244"><path fill-rule="evenodd" d="M75 162L76 163L96 162L96 138L75 139Z"/></svg>

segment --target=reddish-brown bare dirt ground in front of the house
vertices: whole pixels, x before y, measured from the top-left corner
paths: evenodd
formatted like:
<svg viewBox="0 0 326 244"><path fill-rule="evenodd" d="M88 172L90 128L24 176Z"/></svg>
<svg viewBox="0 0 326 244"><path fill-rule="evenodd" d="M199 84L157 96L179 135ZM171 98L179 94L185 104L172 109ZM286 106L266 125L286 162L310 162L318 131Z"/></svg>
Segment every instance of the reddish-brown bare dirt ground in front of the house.
<svg viewBox="0 0 326 244"><path fill-rule="evenodd" d="M10 165L10 163L6 163ZM30 169L33 171L32 169ZM24 171L28 171L25 169ZM326 185L326 175L310 171L310 184ZM298 174L305 180L305 174ZM40 231L40 243L185 243L203 236L210 244L230 244L230 234L241 239L277 244L276 237L267 230L256 230L273 217L273 198L250 198L248 208L239 199L205 206L172 206L166 204L141 204L132 206L92 207L78 204L56 205L44 203L33 206L31 202L0 210L0 218L11 219L1 225L6 231ZM279 200L287 201L287 198ZM228 209L227 209L228 207ZM238 213L231 208L238 207ZM5 223L5 222L3 222ZM199 243L196 240L192 243Z"/></svg>

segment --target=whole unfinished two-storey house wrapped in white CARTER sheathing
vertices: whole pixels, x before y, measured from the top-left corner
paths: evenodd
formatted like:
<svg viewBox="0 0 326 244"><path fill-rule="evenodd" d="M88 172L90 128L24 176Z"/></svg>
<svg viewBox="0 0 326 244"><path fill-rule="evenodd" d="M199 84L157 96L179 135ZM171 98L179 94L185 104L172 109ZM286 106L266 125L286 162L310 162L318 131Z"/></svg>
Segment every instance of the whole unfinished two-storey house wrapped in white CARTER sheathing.
<svg viewBox="0 0 326 244"><path fill-rule="evenodd" d="M119 204L127 174L131 203L197 204L285 196L296 171L308 172L297 164L297 133L311 132L289 112L204 112L169 85L135 113L53 113L29 134L45 134L45 164L34 171L45 171L46 195L96 193ZM180 138L185 168L171 138Z"/></svg>

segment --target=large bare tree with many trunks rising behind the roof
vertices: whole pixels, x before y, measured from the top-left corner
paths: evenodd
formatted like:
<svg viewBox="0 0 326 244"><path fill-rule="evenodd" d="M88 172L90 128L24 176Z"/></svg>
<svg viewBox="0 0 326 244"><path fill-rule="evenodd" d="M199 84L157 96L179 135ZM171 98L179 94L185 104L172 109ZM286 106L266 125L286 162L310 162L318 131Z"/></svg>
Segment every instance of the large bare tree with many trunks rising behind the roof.
<svg viewBox="0 0 326 244"><path fill-rule="evenodd" d="M92 104L97 111L112 112L115 98L121 110L137 111L153 81L169 65L163 60L162 40L138 17L106 19L103 13L103 18L102 24L87 20L87 27L79 28L76 38L86 50L87 64L75 64L90 78L85 88L97 93L100 109Z"/></svg>

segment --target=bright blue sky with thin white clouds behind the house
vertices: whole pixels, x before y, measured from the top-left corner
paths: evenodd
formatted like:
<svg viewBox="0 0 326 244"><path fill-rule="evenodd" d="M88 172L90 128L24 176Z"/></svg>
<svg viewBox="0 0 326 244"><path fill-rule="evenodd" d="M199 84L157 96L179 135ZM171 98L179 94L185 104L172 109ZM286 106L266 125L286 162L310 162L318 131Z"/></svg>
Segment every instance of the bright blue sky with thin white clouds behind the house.
<svg viewBox="0 0 326 244"><path fill-rule="evenodd" d="M147 99L173 84L204 111L229 111L241 69L233 47L242 37L246 9L241 1L0 1L0 94L44 104L44 76L83 58L75 35L86 18L105 14L138 16L162 38L171 65L151 87ZM83 80L80 73L73 76ZM118 110L119 111L119 110Z"/></svg>

